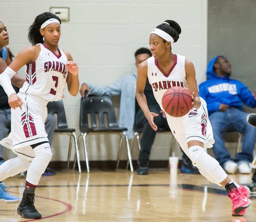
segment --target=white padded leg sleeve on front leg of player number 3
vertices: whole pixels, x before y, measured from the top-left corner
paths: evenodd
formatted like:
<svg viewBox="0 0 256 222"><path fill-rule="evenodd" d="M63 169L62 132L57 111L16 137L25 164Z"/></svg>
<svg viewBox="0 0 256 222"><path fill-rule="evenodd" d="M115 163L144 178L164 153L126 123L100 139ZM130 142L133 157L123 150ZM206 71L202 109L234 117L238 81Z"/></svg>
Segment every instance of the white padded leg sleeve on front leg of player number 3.
<svg viewBox="0 0 256 222"><path fill-rule="evenodd" d="M34 148L34 152L36 157L28 168L26 180L33 185L38 185L42 174L51 160L52 153L50 144L41 144Z"/></svg>

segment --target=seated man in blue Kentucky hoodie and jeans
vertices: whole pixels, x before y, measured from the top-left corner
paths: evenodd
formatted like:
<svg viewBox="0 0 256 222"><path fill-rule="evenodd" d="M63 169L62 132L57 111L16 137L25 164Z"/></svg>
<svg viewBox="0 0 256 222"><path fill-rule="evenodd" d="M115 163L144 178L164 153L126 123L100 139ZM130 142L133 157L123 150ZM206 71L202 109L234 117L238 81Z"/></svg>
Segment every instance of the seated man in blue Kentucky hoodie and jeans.
<svg viewBox="0 0 256 222"><path fill-rule="evenodd" d="M242 111L241 102L256 107L256 93L252 94L242 82L230 79L230 74L231 64L224 56L212 58L207 67L208 80L199 85L199 95L207 103L216 160L228 173L251 173L249 162L253 160L256 128L247 123L248 113ZM224 131L243 134L242 152L234 160L225 147Z"/></svg>

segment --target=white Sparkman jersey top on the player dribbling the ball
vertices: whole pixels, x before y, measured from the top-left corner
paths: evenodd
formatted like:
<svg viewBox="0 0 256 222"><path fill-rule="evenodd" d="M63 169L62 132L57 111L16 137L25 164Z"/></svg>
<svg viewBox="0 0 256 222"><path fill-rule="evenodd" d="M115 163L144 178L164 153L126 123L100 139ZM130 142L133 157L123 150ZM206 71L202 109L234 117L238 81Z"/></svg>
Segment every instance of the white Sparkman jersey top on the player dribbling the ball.
<svg viewBox="0 0 256 222"><path fill-rule="evenodd" d="M148 81L152 86L152 90L156 101L162 107L162 97L166 90L174 86L187 86L185 73L185 56L174 55L174 65L167 74L163 74L161 68L157 64L157 59L153 56L148 61Z"/></svg>

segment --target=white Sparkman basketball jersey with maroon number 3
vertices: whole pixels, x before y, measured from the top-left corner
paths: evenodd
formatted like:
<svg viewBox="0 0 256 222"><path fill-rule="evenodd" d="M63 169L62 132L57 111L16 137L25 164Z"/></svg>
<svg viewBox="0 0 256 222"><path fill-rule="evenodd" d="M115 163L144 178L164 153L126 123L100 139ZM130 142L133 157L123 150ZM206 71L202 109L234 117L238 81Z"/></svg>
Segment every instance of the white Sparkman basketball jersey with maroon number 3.
<svg viewBox="0 0 256 222"><path fill-rule="evenodd" d="M67 57L61 49L56 55L43 44L38 45L41 51L34 63L26 65L26 82L20 92L38 95L47 102L60 100L68 74Z"/></svg>

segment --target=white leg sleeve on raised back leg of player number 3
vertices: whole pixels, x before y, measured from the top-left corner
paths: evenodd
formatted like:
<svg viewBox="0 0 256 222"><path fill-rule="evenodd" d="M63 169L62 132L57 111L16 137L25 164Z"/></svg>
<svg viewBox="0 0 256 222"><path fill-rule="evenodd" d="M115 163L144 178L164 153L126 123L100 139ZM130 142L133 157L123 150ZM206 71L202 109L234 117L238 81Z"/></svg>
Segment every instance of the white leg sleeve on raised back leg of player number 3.
<svg viewBox="0 0 256 222"><path fill-rule="evenodd" d="M28 170L30 163L30 161L19 156L3 162L0 165L0 181Z"/></svg>

